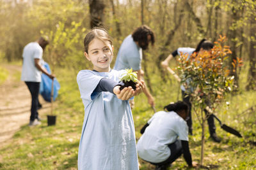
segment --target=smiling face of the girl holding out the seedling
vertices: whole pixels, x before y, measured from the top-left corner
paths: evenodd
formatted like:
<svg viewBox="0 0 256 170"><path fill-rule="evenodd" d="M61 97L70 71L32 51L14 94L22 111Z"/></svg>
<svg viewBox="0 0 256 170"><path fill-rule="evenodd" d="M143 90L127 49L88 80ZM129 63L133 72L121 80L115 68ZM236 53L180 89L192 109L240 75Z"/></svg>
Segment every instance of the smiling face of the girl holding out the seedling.
<svg viewBox="0 0 256 170"><path fill-rule="evenodd" d="M99 72L109 72L110 63L113 59L113 46L109 41L99 38L93 39L88 46L88 53L84 52L86 59L93 64L93 69Z"/></svg>

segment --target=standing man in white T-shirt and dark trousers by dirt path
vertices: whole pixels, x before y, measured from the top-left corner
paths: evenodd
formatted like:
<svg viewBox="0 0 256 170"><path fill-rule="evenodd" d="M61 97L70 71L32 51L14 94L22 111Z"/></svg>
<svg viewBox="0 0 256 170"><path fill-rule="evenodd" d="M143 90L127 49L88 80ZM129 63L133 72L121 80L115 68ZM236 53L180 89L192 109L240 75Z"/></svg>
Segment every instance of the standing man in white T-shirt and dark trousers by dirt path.
<svg viewBox="0 0 256 170"><path fill-rule="evenodd" d="M21 80L25 81L31 94L31 115L29 119L29 126L38 125L40 118L38 117L38 94L40 89L41 73L46 74L53 80L53 74L49 74L44 67L42 67L42 56L45 46L49 41L45 38L39 38L35 42L28 43L23 49L22 57L22 73Z"/></svg>

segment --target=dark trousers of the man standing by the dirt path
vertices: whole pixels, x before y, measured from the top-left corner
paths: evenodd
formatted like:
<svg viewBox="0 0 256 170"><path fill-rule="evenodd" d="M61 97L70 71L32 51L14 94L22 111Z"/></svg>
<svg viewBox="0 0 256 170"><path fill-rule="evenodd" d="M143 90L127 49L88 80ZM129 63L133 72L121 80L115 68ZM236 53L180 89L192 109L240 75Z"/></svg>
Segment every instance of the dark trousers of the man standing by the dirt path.
<svg viewBox="0 0 256 170"><path fill-rule="evenodd" d="M25 83L28 86L28 89L32 98L30 121L33 121L36 118L38 118L37 108L38 108L38 95L40 90L40 82L25 81Z"/></svg>

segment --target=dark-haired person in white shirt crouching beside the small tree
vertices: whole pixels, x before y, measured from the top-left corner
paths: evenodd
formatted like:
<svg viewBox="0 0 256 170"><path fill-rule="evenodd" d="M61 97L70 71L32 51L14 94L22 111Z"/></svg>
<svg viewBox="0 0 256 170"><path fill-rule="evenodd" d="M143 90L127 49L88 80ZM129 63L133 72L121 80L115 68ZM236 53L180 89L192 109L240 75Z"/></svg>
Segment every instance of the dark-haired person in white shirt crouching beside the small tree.
<svg viewBox="0 0 256 170"><path fill-rule="evenodd" d="M141 138L137 149L141 159L156 166L156 169L167 169L180 155L184 156L188 166L192 162L188 143L188 104L183 101L168 104L165 111L158 111L141 129Z"/></svg>

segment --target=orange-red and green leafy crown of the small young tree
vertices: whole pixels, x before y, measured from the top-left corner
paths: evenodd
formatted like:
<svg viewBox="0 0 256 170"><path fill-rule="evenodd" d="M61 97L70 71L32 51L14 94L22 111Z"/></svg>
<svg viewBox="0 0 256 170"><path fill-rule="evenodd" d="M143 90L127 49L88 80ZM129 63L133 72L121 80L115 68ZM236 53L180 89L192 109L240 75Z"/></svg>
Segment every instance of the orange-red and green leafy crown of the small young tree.
<svg viewBox="0 0 256 170"><path fill-rule="evenodd" d="M230 71L225 66L231 51L223 44L225 41L225 36L220 36L210 52L193 53L189 58L182 54L178 59L181 83L200 110L204 110L205 103L211 103L211 108L216 108L225 94L232 90L234 76L228 76ZM233 64L241 66L242 61L237 59Z"/></svg>

